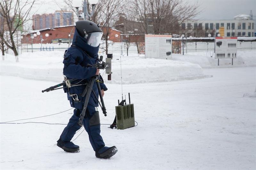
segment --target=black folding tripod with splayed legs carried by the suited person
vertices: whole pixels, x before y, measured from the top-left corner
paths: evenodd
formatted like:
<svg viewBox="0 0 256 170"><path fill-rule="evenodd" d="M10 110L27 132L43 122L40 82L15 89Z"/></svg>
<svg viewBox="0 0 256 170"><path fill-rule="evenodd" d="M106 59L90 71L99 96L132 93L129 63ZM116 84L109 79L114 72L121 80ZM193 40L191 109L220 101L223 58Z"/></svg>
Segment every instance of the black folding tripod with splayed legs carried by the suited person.
<svg viewBox="0 0 256 170"><path fill-rule="evenodd" d="M53 90L57 90L57 89L62 89L62 88L69 88L66 85L66 82L68 83L71 83L75 80L78 80L78 79L70 79L70 80L66 80L64 81L63 83L60 83L58 85L54 85L54 86L51 86L45 90L42 90L42 92L49 92L49 91L53 91ZM102 94L101 94L101 89L100 89L100 83L99 83L99 75L95 75L93 77L91 77L89 83L86 83L86 84L79 84L79 85L86 85L85 87L85 90L84 92L82 93L82 97L86 96L85 97L85 103L84 103L84 107L83 107L83 111L82 113L80 114L80 117L79 117L79 120L78 120L78 125L80 126L83 126L83 119L85 117L85 111L86 111L86 108L87 108L87 105L88 105L88 101L89 101L89 98L90 98L90 95L91 95L91 92L93 92L95 98L97 99L102 111L103 111L103 114L104 116L107 116L107 112L106 112L106 107L105 107L105 104L104 104L104 101L103 101L103 97L102 97ZM99 92L99 96L100 96L100 100L98 100L97 96L96 96L96 93L94 92L94 90L92 89L93 88L93 85L94 85L94 82L96 81L96 84L97 84L97 89L98 89L98 92ZM70 87L73 87L73 86L79 86L79 85L70 85ZM61 87L63 86L63 87Z"/></svg>

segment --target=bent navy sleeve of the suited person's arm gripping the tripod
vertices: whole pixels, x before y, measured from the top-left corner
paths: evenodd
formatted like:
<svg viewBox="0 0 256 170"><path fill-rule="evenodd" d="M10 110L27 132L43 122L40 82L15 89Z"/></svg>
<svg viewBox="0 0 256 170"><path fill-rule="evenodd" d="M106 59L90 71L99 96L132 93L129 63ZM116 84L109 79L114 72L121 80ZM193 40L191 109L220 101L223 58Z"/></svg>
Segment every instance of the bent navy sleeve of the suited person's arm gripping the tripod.
<svg viewBox="0 0 256 170"><path fill-rule="evenodd" d="M95 67L82 67L80 63L83 61L81 56L71 54L64 56L63 74L69 78L87 79L96 74Z"/></svg>

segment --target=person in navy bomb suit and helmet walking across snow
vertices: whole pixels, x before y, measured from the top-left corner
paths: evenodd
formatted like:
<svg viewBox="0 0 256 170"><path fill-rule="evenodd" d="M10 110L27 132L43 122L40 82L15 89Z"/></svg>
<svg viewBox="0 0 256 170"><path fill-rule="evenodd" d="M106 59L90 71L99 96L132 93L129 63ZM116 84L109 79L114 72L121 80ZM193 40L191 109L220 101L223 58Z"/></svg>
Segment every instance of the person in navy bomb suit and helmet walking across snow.
<svg viewBox="0 0 256 170"><path fill-rule="evenodd" d="M76 22L72 45L65 52L63 60L63 74L68 79L78 79L72 82L72 84L88 83L91 77L99 75L99 69L95 67L87 67L87 64L93 65L99 62L98 51L102 35L103 31L99 25L94 22L87 20L80 20ZM100 87L103 96L104 91L107 90L103 81L101 81ZM78 119L82 113L85 102L85 97L82 97L81 94L85 88L86 85L81 85L73 86L64 90L67 92L71 107L75 108L74 114L70 118L68 125L64 128L59 140L57 141L57 145L66 152L80 151L79 146L70 141L76 131L80 129ZM98 98L99 93L96 82L93 85L93 90ZM95 151L95 156L97 158L106 159L113 156L117 152L117 148L115 146L106 147L103 142L103 138L100 135L100 117L99 112L96 112L95 110L95 107L98 107L96 97L91 93L86 114L83 119L83 126L88 133L89 141Z"/></svg>

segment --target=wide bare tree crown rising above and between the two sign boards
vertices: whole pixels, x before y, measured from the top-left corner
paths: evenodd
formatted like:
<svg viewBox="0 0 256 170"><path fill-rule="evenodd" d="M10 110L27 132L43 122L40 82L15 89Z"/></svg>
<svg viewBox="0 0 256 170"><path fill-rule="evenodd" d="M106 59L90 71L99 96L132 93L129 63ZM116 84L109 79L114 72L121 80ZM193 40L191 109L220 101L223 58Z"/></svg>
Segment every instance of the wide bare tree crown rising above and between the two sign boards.
<svg viewBox="0 0 256 170"><path fill-rule="evenodd" d="M182 0L131 0L134 8L130 9L131 18L136 18L141 31L153 34L177 33L179 25L194 18L199 4L186 4Z"/></svg>

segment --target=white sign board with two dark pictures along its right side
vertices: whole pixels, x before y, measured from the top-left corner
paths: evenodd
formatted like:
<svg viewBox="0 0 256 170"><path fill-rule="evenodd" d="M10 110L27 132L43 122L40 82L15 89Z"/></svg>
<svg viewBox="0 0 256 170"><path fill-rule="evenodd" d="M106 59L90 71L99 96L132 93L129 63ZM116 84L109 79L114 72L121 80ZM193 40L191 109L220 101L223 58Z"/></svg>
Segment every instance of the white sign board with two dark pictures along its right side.
<svg viewBox="0 0 256 170"><path fill-rule="evenodd" d="M171 35L145 34L145 58L171 58Z"/></svg>

